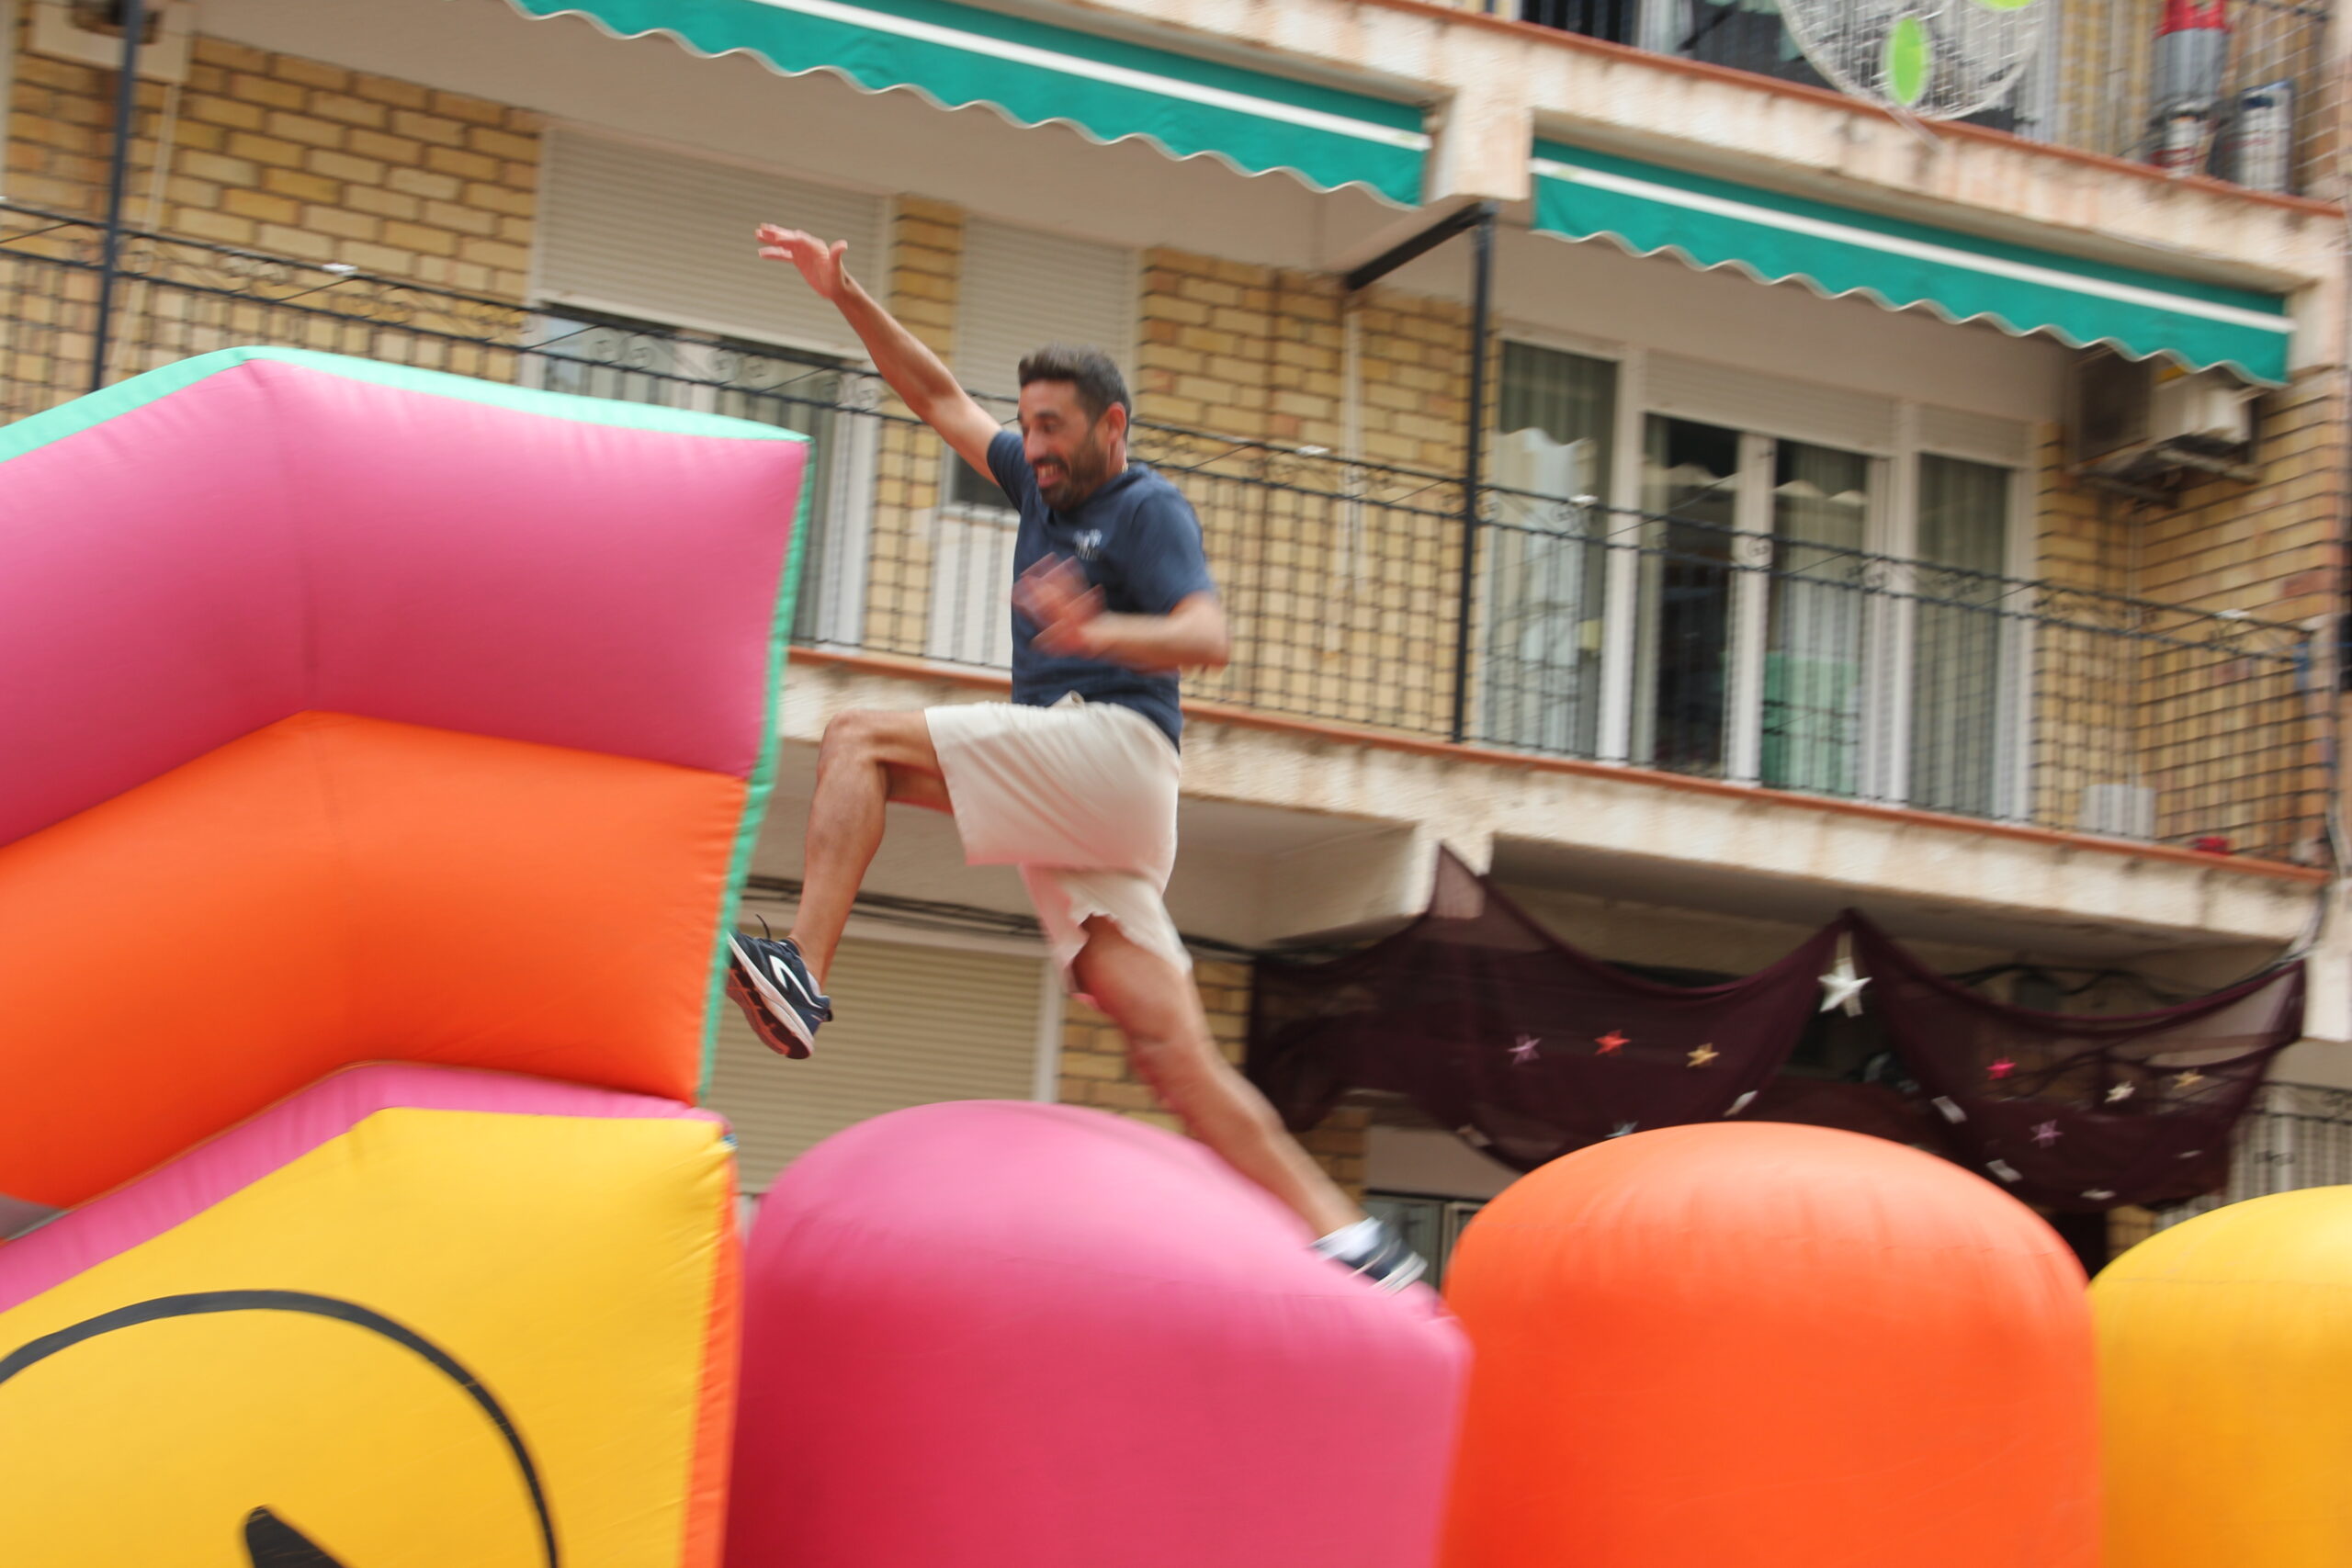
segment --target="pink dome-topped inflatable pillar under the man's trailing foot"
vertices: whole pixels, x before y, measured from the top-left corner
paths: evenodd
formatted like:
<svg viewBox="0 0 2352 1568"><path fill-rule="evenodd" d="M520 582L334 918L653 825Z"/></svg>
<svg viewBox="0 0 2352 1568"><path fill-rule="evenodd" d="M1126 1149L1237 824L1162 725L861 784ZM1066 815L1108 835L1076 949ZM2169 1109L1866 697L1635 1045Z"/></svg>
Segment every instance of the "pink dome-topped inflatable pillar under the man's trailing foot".
<svg viewBox="0 0 2352 1568"><path fill-rule="evenodd" d="M731 1568L1428 1568L1468 1345L1169 1133L854 1126L746 1260Z"/></svg>

